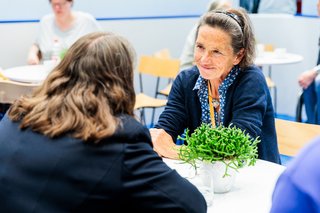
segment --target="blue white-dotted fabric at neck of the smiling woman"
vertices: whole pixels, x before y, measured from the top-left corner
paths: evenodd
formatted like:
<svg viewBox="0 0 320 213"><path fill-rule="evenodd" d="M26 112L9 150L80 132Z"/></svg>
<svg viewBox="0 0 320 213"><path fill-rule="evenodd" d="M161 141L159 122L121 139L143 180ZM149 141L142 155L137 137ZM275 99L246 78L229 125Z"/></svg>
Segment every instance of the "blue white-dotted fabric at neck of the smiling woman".
<svg viewBox="0 0 320 213"><path fill-rule="evenodd" d="M224 106L226 103L226 93L230 85L234 82L237 75L241 69L239 66L234 66L230 73L227 75L227 77L223 80L223 82L219 86L219 99L220 99L220 119L219 114L215 110L214 111L214 117L215 117L215 124L216 126L219 126L220 124L223 124L224 120ZM208 86L207 86L207 80L201 77L199 75L199 78L197 79L195 86L193 90L198 90L198 97L199 101L201 103L201 122L202 123L211 123L210 118L210 105L208 101Z"/></svg>

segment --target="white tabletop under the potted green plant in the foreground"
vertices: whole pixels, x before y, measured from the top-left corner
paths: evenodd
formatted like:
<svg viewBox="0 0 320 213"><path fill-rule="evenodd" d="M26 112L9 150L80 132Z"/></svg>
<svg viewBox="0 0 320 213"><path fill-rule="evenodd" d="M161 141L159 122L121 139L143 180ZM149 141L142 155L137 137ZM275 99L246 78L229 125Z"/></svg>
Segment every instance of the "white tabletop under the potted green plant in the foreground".
<svg viewBox="0 0 320 213"><path fill-rule="evenodd" d="M176 160L164 159L164 162L183 177L188 177L192 171L188 164ZM255 166L240 169L229 192L214 194L208 213L268 213L275 183L284 169L284 166L263 160L257 160Z"/></svg>

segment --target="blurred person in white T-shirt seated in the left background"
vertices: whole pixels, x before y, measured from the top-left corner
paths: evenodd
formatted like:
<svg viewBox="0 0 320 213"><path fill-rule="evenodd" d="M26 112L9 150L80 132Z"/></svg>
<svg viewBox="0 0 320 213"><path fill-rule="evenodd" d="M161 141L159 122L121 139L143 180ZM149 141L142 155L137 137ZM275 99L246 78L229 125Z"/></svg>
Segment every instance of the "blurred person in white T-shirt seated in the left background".
<svg viewBox="0 0 320 213"><path fill-rule="evenodd" d="M28 64L51 60L54 48L62 52L81 36L101 30L92 15L72 11L73 0L49 0L49 3L53 13L40 20L39 34L28 53Z"/></svg>

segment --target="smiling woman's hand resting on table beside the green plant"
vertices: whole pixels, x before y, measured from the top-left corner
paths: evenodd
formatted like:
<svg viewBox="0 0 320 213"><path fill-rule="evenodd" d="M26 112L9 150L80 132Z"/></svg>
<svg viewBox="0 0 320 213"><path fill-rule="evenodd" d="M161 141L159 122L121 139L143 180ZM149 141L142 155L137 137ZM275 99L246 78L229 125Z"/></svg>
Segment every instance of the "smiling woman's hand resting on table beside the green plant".
<svg viewBox="0 0 320 213"><path fill-rule="evenodd" d="M180 146L176 145L172 137L166 133L163 129L149 129L153 149L158 153L160 157L170 158L170 159L179 159L178 152Z"/></svg>

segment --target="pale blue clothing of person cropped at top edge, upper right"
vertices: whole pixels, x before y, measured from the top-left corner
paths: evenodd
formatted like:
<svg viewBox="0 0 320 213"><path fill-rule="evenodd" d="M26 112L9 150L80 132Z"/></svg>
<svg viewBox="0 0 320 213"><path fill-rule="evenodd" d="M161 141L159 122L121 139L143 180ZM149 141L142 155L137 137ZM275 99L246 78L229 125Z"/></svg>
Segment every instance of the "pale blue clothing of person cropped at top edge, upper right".
<svg viewBox="0 0 320 213"><path fill-rule="evenodd" d="M297 13L296 0L260 0L258 13L284 13L295 15Z"/></svg>

